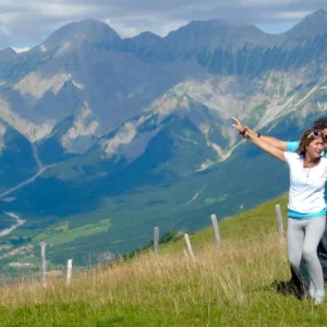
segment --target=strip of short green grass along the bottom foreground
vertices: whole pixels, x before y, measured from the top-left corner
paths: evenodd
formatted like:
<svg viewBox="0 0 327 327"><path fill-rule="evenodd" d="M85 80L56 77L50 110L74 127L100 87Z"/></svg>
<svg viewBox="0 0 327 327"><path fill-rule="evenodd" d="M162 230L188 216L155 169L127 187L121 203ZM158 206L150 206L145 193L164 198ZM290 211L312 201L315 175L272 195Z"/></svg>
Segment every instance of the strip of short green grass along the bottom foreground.
<svg viewBox="0 0 327 327"><path fill-rule="evenodd" d="M192 301L192 299L187 299ZM282 307L281 307L282 306ZM253 295L246 304L219 306L204 300L195 303L162 301L152 303L106 303L94 307L90 303L55 303L20 308L12 319L5 310L0 311L2 326L326 326L326 308L313 307L308 301L281 299L267 290ZM12 324L12 325L10 325Z"/></svg>

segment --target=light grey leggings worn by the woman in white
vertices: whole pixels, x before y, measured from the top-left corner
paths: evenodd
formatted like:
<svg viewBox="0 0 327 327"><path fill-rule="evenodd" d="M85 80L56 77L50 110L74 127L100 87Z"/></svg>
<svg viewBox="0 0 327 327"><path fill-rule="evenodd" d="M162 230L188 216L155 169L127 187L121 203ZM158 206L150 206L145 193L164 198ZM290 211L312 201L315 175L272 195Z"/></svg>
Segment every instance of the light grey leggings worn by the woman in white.
<svg viewBox="0 0 327 327"><path fill-rule="evenodd" d="M318 243L326 226L326 216L306 219L288 219L289 261L301 276L300 263L303 257L315 290L324 290L323 268L317 255Z"/></svg>

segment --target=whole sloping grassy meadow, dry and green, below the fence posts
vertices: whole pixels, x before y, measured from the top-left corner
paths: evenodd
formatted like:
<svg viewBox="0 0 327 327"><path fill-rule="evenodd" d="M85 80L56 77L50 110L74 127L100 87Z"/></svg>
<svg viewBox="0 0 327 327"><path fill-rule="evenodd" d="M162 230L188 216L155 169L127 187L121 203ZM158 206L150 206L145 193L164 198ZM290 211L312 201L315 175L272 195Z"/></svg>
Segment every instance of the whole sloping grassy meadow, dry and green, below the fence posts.
<svg viewBox="0 0 327 327"><path fill-rule="evenodd" d="M290 278L275 205L281 197L184 240L88 272L72 283L52 278L2 288L0 326L326 326L327 304L314 306L276 290ZM286 214L286 213L283 213ZM286 215L284 215L286 216Z"/></svg>

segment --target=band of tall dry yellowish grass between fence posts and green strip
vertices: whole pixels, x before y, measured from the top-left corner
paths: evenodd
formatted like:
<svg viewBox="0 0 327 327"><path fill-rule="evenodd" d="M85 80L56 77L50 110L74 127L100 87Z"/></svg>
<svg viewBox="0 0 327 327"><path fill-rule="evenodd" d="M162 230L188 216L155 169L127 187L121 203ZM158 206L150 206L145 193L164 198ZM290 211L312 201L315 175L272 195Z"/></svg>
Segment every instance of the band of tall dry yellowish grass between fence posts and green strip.
<svg viewBox="0 0 327 327"><path fill-rule="evenodd" d="M217 249L206 242L195 249L196 263L182 252L145 253L132 262L118 262L74 275L70 286L56 278L47 288L29 281L1 289L0 306L17 308L36 304L87 302L143 305L172 303L175 314L187 304L244 305L250 294L288 278L284 242L275 233L227 242Z"/></svg>

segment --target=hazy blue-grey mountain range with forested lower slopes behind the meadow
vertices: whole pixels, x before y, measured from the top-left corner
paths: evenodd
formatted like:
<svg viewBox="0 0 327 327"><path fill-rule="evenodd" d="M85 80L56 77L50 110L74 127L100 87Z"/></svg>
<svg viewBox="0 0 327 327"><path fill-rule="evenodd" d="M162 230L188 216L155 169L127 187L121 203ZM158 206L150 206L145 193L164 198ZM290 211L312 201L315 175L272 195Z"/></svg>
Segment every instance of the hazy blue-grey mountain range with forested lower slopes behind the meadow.
<svg viewBox="0 0 327 327"><path fill-rule="evenodd" d="M0 51L2 244L83 263L195 231L287 191L287 168L235 134L235 116L296 140L326 114L327 12L269 35L194 21L122 39L95 20L28 52ZM11 250L12 251L12 250Z"/></svg>

